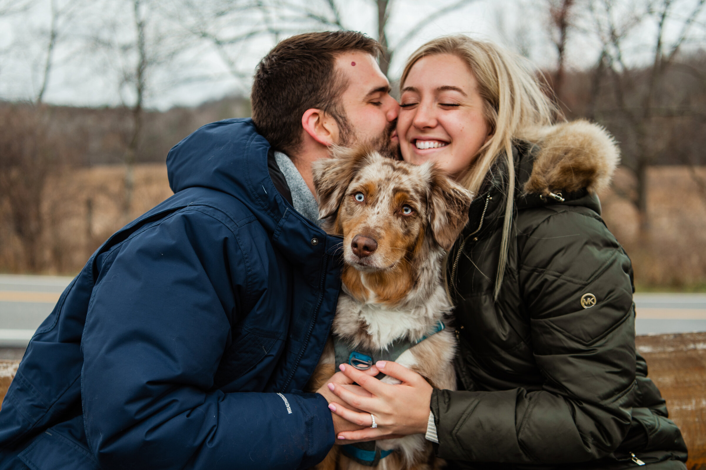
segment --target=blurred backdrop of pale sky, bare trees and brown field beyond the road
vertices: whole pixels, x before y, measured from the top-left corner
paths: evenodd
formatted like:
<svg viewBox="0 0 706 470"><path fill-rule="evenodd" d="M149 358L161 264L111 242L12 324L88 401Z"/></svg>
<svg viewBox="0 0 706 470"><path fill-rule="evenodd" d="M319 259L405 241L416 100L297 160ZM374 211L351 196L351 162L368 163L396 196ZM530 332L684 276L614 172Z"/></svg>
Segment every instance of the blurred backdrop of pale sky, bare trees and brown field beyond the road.
<svg viewBox="0 0 706 470"><path fill-rule="evenodd" d="M250 114L282 37L355 29L405 58L466 33L527 57L623 165L604 218L643 291L706 292L703 0L0 0L0 273L75 274L167 198L169 148Z"/></svg>

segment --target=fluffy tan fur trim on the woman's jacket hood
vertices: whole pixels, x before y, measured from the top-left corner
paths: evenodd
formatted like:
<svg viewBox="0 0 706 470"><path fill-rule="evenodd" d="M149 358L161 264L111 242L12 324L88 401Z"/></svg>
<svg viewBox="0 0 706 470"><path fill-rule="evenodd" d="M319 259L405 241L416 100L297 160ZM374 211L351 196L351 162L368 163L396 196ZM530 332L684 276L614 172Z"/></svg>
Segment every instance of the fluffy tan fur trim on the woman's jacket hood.
<svg viewBox="0 0 706 470"><path fill-rule="evenodd" d="M549 195L608 187L620 163L620 150L606 129L585 119L542 129L525 194Z"/></svg>

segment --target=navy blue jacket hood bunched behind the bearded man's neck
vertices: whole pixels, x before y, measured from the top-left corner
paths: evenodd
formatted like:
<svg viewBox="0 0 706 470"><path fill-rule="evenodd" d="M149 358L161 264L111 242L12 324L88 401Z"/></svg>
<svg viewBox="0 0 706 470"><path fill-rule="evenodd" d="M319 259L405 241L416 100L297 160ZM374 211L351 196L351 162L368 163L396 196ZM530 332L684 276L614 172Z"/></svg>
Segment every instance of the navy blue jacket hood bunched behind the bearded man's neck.
<svg viewBox="0 0 706 470"><path fill-rule="evenodd" d="M167 155L169 187L174 193L207 187L235 196L270 232L287 209L295 213L275 188L268 171L270 143L255 129L252 119L225 119L197 129ZM323 232L311 221L295 217Z"/></svg>

